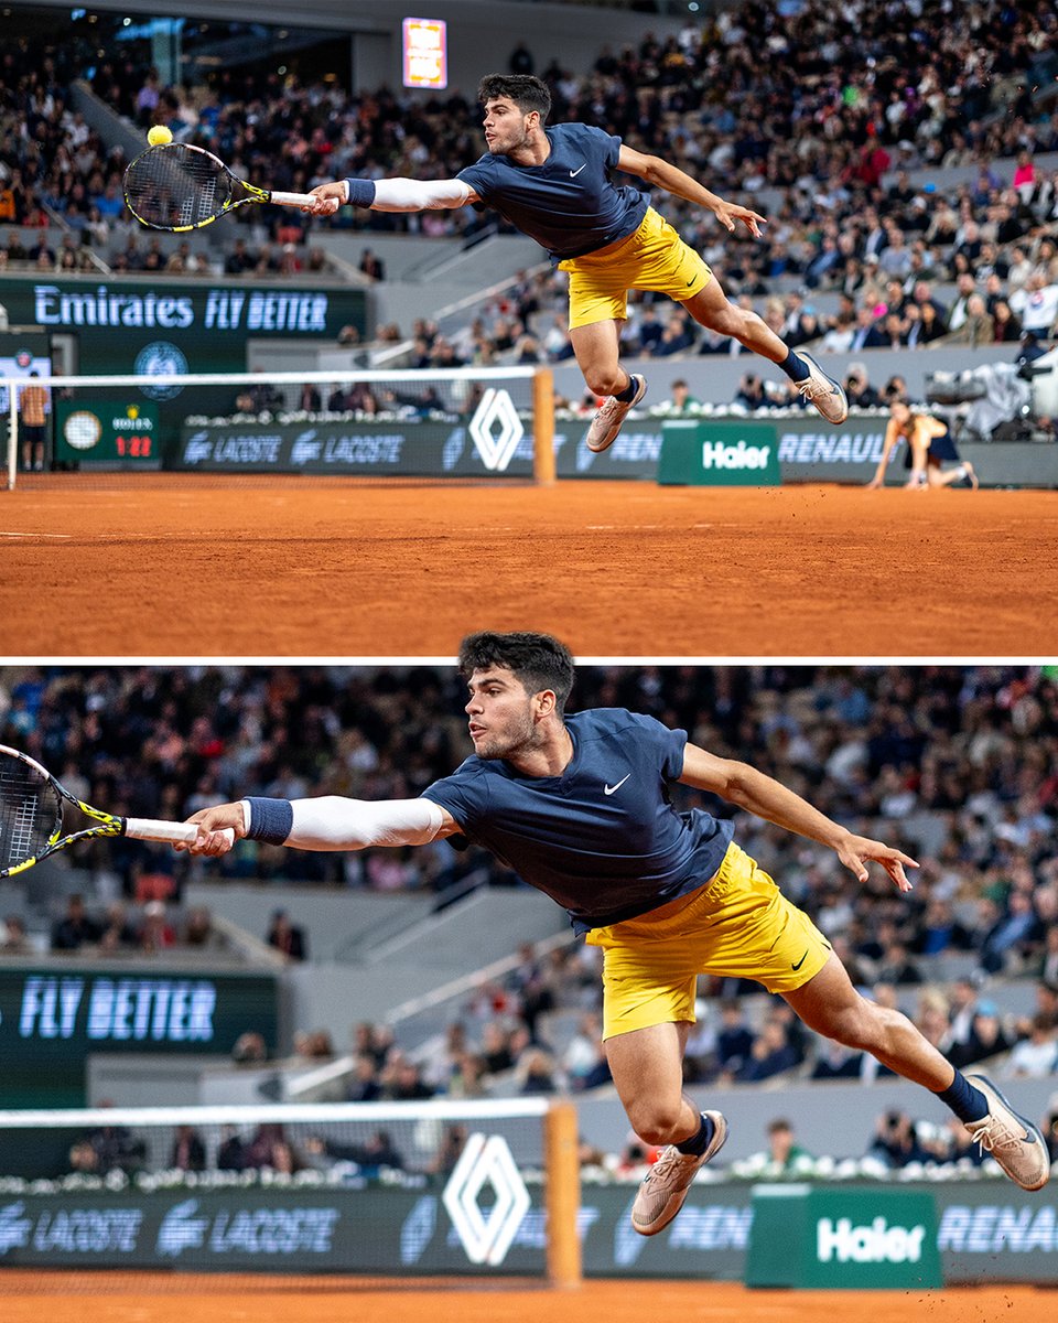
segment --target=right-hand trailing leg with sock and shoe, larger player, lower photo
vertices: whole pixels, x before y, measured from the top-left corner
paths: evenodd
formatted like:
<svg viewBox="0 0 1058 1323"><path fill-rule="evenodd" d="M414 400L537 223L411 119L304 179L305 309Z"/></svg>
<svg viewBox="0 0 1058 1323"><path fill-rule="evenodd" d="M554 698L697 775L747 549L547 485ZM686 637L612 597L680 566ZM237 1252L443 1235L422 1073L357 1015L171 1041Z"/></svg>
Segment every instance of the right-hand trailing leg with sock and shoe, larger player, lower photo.
<svg viewBox="0 0 1058 1323"><path fill-rule="evenodd" d="M987 1076L957 1072L907 1016L862 998L836 955L804 987L783 996L809 1029L869 1052L905 1080L938 1094L1022 1189L1047 1183L1050 1156L1037 1127L1013 1110Z"/></svg>

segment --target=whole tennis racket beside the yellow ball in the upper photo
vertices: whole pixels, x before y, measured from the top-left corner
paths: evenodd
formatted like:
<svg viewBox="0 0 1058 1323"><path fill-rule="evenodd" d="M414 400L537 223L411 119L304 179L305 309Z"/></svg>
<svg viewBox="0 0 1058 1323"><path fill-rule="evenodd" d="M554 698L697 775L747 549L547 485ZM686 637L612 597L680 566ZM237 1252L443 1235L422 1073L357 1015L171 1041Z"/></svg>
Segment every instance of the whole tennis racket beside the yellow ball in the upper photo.
<svg viewBox="0 0 1058 1323"><path fill-rule="evenodd" d="M190 143L160 143L128 164L124 201L140 225L183 234L212 225L247 202L311 206L311 193L276 193L233 175L222 160Z"/></svg>

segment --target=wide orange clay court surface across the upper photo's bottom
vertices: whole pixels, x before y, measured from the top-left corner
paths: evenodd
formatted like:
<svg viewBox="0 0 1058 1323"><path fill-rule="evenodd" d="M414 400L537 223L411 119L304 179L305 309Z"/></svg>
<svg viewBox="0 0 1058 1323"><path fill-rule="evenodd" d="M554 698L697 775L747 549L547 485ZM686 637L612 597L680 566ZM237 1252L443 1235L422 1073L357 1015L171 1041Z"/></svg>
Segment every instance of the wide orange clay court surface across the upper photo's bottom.
<svg viewBox="0 0 1058 1323"><path fill-rule="evenodd" d="M49 475L0 492L0 655L1058 654L1058 492Z"/></svg>

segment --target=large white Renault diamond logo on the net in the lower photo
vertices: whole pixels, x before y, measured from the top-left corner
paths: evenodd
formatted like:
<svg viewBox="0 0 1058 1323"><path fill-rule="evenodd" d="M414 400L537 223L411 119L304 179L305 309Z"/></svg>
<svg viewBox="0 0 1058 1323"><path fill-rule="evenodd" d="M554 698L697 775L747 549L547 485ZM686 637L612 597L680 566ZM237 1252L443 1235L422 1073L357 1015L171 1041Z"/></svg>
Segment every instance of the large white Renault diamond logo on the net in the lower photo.
<svg viewBox="0 0 1058 1323"><path fill-rule="evenodd" d="M487 1184L496 1196L488 1216L477 1203ZM442 1197L471 1263L503 1263L530 1205L503 1135L469 1135Z"/></svg>

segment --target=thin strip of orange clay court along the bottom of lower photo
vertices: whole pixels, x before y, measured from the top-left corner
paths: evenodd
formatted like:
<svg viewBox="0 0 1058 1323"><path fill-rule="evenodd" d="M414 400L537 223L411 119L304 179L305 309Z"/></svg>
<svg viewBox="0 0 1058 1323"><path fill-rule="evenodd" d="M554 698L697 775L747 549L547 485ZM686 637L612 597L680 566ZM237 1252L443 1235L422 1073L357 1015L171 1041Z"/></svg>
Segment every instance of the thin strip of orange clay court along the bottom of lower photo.
<svg viewBox="0 0 1058 1323"><path fill-rule="evenodd" d="M540 1286L335 1277L0 1271L4 1323L1028 1323L1054 1318L1033 1286L944 1291L749 1291L731 1282Z"/></svg>

